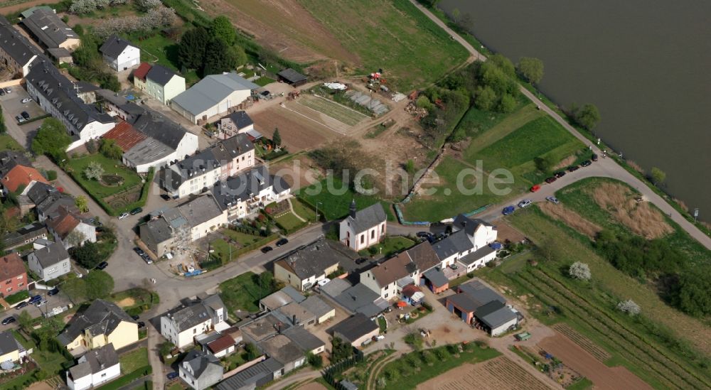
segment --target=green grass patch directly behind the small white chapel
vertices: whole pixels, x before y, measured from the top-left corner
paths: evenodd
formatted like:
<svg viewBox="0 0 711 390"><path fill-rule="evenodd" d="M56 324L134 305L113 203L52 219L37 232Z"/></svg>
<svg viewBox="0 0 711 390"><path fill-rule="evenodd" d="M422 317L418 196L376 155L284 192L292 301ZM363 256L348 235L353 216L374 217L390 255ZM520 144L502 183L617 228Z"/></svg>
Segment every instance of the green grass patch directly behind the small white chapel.
<svg viewBox="0 0 711 390"><path fill-rule="evenodd" d="M387 220L395 220L395 215L392 215L390 205L387 202L378 200L377 197L356 193L351 188L343 188L343 183L338 178L332 178L331 183L333 184L330 187L333 188L333 193L331 193L331 191L328 191L327 181L328 179L324 179L319 183L309 185L309 187L300 188L296 196L300 200L314 205L314 208L319 205L319 214L324 215L326 220L329 221L346 217L352 200L355 200L355 206L358 207L358 210L363 210L365 207L374 205L375 202L380 202L383 204L383 209L385 209Z"/></svg>

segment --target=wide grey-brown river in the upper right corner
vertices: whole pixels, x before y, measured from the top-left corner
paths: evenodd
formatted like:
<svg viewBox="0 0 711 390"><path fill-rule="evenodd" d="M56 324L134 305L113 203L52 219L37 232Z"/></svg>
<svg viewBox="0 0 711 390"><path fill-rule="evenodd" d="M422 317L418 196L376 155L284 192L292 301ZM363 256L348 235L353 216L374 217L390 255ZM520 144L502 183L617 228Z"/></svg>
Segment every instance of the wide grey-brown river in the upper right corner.
<svg viewBox="0 0 711 390"><path fill-rule="evenodd" d="M595 133L711 221L711 1L442 0L481 42L545 64L561 107L593 103Z"/></svg>

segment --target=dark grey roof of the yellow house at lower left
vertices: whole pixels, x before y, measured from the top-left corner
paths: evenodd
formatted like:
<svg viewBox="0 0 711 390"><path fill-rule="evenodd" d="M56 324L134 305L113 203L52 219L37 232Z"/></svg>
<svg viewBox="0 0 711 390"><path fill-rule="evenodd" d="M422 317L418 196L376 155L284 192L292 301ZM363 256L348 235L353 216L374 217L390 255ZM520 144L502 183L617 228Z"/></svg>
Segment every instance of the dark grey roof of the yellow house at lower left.
<svg viewBox="0 0 711 390"><path fill-rule="evenodd" d="M62 345L68 345L87 329L92 335L109 335L123 321L136 323L115 303L97 299L84 312L74 315L57 339Z"/></svg>

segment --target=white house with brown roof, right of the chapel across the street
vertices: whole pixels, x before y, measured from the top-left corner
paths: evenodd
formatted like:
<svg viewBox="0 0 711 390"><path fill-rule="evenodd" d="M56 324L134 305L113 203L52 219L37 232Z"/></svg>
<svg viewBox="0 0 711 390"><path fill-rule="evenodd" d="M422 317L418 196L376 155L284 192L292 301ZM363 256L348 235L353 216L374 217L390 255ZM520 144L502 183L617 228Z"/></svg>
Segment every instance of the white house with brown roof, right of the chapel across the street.
<svg viewBox="0 0 711 390"><path fill-rule="evenodd" d="M361 272L360 283L378 293L380 298L392 300L400 296L402 287L419 284L417 264L405 251Z"/></svg>

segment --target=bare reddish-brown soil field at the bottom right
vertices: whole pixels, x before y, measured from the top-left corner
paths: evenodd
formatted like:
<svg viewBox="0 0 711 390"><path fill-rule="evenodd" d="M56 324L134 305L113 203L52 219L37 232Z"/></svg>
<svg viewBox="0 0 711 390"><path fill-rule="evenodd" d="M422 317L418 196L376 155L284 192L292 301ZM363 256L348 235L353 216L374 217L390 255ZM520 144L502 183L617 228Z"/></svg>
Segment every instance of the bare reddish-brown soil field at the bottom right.
<svg viewBox="0 0 711 390"><path fill-rule="evenodd" d="M651 389L625 367L607 367L560 333L546 337L538 346L590 379L596 389Z"/></svg>

